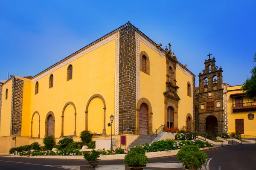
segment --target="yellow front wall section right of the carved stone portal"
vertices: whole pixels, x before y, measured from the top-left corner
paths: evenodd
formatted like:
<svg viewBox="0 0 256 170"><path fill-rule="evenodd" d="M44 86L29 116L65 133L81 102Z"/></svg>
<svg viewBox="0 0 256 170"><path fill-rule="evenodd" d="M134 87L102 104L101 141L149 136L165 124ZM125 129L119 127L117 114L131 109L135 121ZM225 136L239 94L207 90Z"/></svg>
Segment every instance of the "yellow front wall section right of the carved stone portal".
<svg viewBox="0 0 256 170"><path fill-rule="evenodd" d="M191 77L185 74L185 69L176 68L176 80L177 86L177 94L180 97L180 101L178 102L178 128L182 126L186 126L186 116L190 113L193 116L191 108L193 107L191 101L193 100L192 97L187 95L187 82L190 82L190 87L192 89L193 83ZM191 92L191 94L193 94ZM193 117L191 117L191 121L193 121Z"/></svg>

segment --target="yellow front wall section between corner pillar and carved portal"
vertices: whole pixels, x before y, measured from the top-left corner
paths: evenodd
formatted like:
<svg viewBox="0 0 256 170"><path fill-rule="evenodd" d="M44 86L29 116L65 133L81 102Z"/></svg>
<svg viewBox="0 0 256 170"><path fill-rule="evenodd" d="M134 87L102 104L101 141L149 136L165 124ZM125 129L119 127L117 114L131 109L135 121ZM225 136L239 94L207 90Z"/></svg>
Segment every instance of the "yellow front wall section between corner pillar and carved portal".
<svg viewBox="0 0 256 170"><path fill-rule="evenodd" d="M148 54L150 75L140 71L140 98L148 99L152 106L154 132L161 124L164 125L163 92L166 91L166 59L140 41L141 51L145 51Z"/></svg>

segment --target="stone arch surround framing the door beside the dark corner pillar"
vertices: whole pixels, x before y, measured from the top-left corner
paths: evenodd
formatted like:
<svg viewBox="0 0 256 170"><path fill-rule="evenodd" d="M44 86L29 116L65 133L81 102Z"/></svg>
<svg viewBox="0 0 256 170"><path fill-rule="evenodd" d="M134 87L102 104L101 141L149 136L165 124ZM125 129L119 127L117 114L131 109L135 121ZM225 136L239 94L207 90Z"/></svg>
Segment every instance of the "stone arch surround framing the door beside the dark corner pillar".
<svg viewBox="0 0 256 170"><path fill-rule="evenodd" d="M140 105L145 103L148 106L148 133L153 133L153 110L150 102L146 98L140 98L136 106L136 134L140 134Z"/></svg>

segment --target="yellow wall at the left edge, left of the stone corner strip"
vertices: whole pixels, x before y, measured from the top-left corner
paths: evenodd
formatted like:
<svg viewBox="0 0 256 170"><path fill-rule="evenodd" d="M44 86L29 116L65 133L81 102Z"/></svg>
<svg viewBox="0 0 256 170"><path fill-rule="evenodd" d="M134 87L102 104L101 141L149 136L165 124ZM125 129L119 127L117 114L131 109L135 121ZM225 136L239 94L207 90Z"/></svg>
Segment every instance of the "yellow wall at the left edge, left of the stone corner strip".
<svg viewBox="0 0 256 170"><path fill-rule="evenodd" d="M2 108L0 136L10 136L11 113L12 113L12 79L2 85ZM6 89L8 89L8 99L6 99Z"/></svg>

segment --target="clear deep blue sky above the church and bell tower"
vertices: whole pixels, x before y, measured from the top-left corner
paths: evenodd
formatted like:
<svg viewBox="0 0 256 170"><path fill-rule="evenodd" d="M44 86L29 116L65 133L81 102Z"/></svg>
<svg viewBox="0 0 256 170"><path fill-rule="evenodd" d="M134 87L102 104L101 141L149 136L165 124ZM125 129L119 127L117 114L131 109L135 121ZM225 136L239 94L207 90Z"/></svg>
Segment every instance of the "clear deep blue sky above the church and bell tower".
<svg viewBox="0 0 256 170"><path fill-rule="evenodd" d="M209 53L230 85L253 67L255 0L1 0L0 8L1 80L35 76L128 21L163 48L170 42L196 76Z"/></svg>

